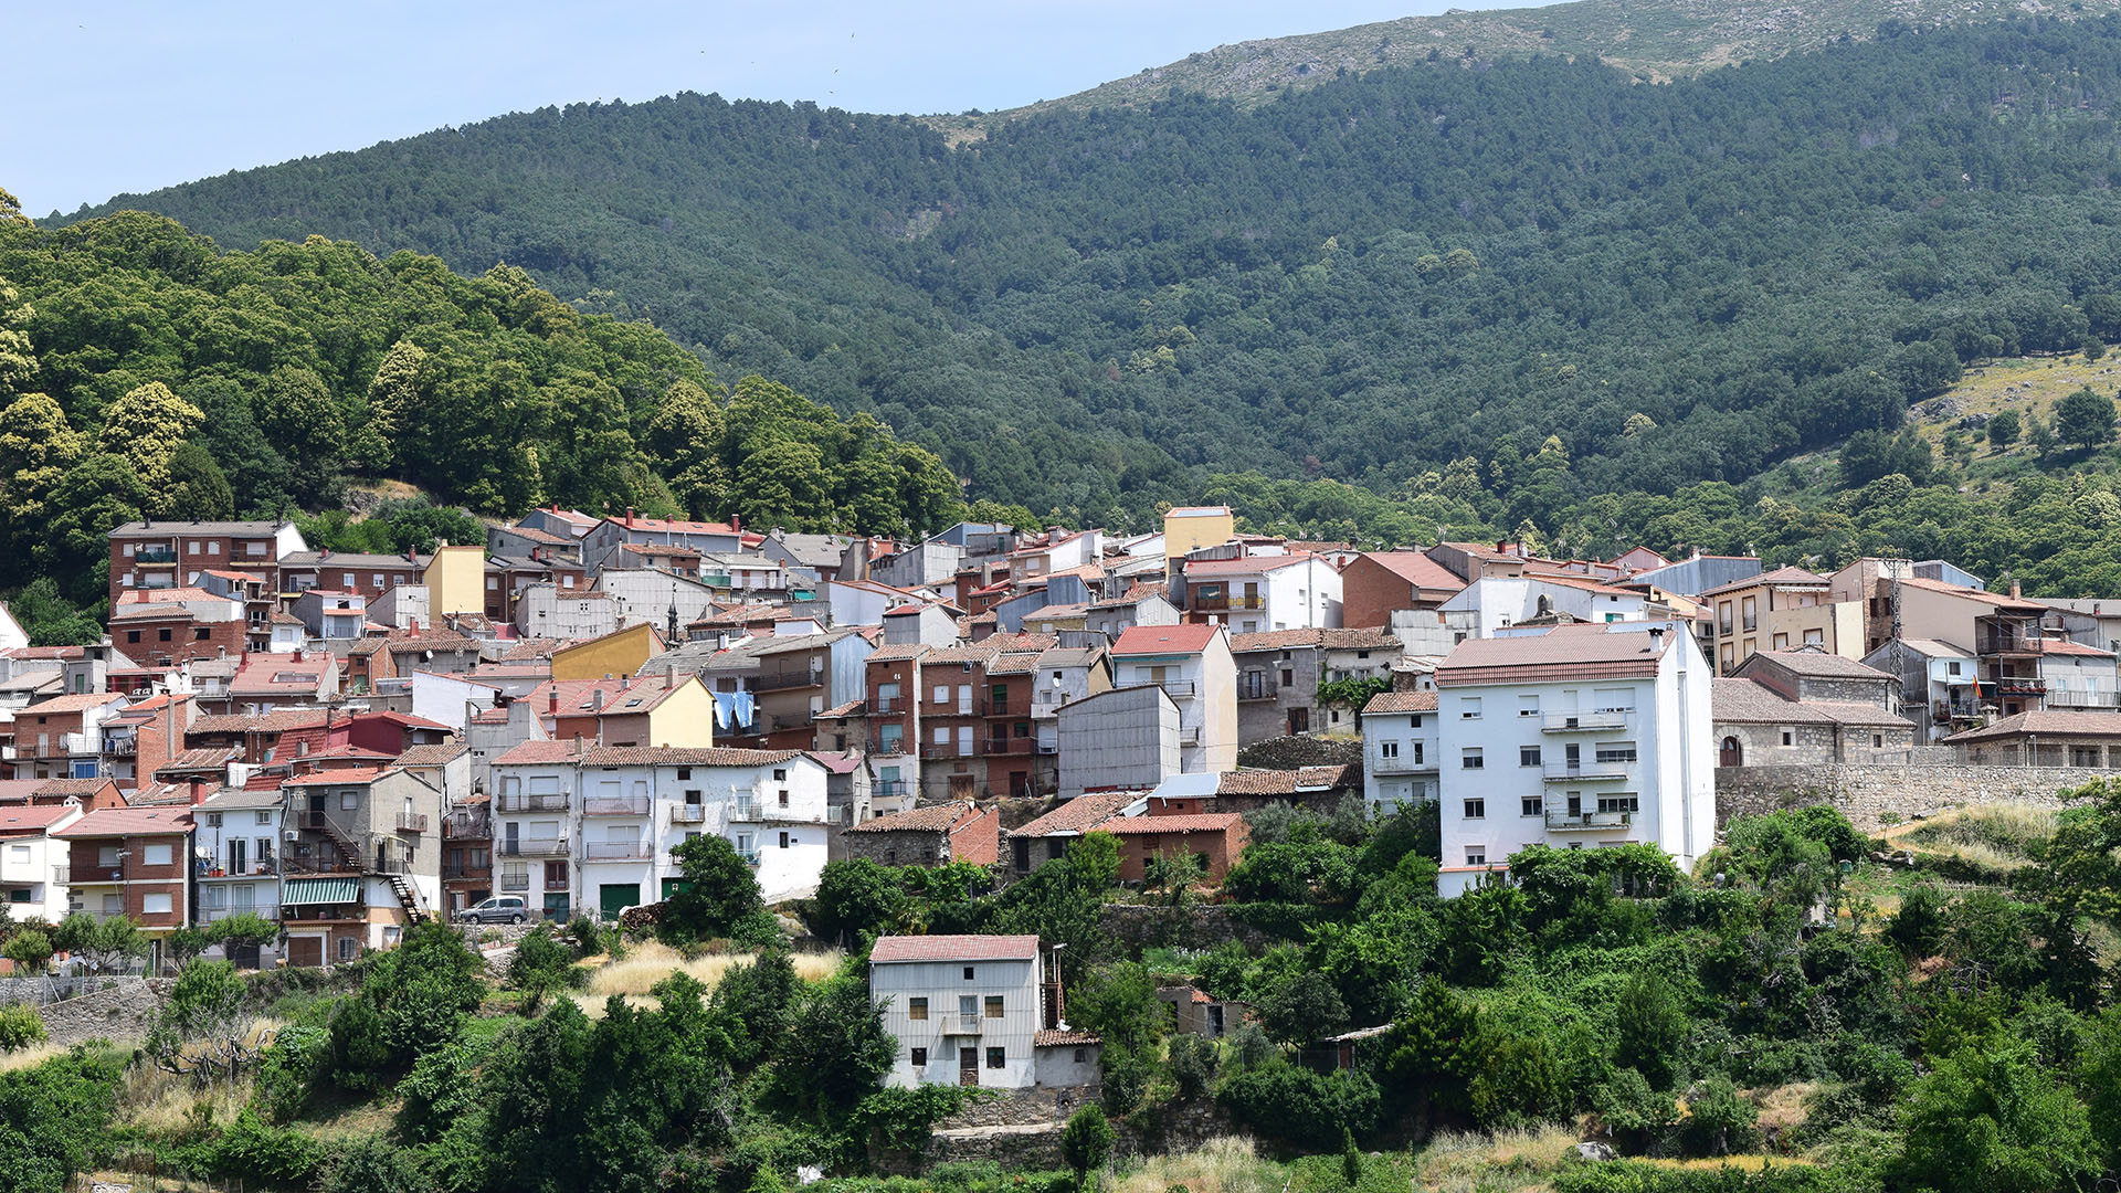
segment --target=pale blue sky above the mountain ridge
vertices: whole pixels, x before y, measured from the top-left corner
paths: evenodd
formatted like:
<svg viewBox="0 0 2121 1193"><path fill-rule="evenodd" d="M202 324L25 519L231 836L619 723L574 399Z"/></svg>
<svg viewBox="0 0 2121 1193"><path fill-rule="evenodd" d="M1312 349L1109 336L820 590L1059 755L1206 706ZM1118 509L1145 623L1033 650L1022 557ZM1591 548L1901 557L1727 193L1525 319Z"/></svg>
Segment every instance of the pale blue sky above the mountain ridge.
<svg viewBox="0 0 2121 1193"><path fill-rule="evenodd" d="M1519 0L1523 4L1525 0ZM672 91L961 113L1226 42L1497 0L189 0L17 6L0 189L74 210L335 149Z"/></svg>

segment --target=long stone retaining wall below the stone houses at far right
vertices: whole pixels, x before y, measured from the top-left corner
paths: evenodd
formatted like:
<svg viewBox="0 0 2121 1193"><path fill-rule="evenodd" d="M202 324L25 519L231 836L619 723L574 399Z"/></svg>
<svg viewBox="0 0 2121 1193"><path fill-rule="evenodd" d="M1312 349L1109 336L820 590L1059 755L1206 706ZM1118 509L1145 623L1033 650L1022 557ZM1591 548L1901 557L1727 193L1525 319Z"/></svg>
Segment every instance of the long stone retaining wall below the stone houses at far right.
<svg viewBox="0 0 2121 1193"><path fill-rule="evenodd" d="M2066 766L1724 766L1716 771L1716 824L1733 815L1833 805L1862 832L1953 805L2030 802L2059 807L2057 792L2113 771Z"/></svg>

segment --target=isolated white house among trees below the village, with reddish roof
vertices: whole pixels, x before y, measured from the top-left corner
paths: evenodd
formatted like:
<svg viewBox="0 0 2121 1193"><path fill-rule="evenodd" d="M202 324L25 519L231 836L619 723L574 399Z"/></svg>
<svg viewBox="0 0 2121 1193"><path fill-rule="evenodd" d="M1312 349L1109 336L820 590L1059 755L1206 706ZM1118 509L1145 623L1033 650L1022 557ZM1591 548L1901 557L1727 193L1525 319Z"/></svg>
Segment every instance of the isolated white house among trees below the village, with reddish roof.
<svg viewBox="0 0 2121 1193"><path fill-rule="evenodd" d="M1058 1021L1037 936L878 936L870 998L899 1044L884 1085L1097 1083L1099 1038Z"/></svg>

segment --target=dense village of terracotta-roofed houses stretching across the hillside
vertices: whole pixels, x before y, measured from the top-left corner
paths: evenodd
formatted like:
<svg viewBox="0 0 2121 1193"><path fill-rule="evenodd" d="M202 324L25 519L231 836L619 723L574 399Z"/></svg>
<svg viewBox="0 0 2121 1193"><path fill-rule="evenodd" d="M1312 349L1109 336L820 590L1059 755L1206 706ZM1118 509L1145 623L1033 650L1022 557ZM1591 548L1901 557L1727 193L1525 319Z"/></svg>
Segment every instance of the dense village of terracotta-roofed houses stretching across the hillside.
<svg viewBox="0 0 2121 1193"><path fill-rule="evenodd" d="M1086 832L1215 885L1270 802L1434 805L1438 892L1527 847L1654 845L1805 792L1864 830L2121 768L2121 603L1945 560L1357 552L1175 507L1147 535L925 541L537 509L486 543L110 529L108 637L0 652L15 919L246 964L426 919L619 919L725 838L766 902L825 864L1010 883ZM490 902L505 900L505 902Z"/></svg>

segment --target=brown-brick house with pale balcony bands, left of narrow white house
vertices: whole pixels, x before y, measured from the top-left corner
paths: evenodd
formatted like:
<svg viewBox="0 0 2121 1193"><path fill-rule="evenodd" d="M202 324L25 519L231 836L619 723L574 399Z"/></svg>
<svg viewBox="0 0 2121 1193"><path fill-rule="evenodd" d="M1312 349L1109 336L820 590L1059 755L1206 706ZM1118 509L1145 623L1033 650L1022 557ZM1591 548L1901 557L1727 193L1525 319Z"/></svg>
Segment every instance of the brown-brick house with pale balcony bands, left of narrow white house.
<svg viewBox="0 0 2121 1193"><path fill-rule="evenodd" d="M163 940L191 921L191 805L91 811L51 832L68 847L70 906L127 915L148 938L146 972L161 972Z"/></svg>

